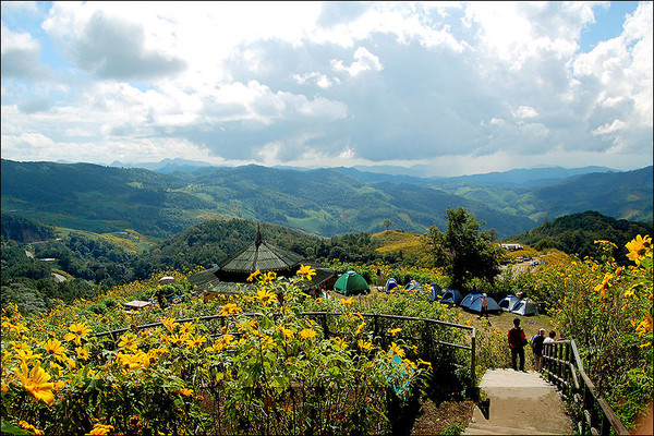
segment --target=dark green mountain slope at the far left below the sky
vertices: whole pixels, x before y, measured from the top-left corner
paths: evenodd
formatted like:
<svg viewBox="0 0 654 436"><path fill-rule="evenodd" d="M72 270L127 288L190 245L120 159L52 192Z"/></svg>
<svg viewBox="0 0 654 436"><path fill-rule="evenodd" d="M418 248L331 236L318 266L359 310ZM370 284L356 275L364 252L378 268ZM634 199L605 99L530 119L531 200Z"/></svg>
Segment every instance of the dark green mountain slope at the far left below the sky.
<svg viewBox="0 0 654 436"><path fill-rule="evenodd" d="M185 210L215 207L178 191L185 181L140 168L2 159L0 172L2 210L72 229L165 237L192 223Z"/></svg>

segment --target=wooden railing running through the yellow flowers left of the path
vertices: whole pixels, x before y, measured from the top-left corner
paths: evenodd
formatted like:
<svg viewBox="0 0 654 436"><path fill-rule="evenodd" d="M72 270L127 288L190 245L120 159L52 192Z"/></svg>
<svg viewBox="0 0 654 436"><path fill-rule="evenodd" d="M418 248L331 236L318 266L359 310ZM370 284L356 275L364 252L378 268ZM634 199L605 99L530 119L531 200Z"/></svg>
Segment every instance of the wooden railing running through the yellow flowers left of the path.
<svg viewBox="0 0 654 436"><path fill-rule="evenodd" d="M242 315L255 316L255 314L253 314L253 313L244 313ZM302 313L300 313L300 315L318 318L320 320L325 338L328 338L331 335L339 334L338 331L329 330L328 318L332 317L332 316L342 316L342 315L344 315L344 313L341 313L341 312L302 312ZM423 343L426 343L428 347L432 347L434 344L439 344L439 346L445 346L445 347L449 347L449 348L469 351L470 352L470 374L471 374L472 379L474 379L475 352L476 352L476 329L474 327L463 326L460 324L446 323L446 322L438 320L438 319L416 318L416 317L400 316L400 315L363 313L363 314L361 314L361 316L363 316L364 318L373 318L373 337L380 338L383 342L388 342L390 340L390 338L392 337L392 335L388 334L388 328L386 328L386 329L384 328L385 326L383 324L385 323L385 320L424 323L425 327L421 330L421 335L419 337L408 337L408 336L400 335L395 338L403 339L407 341L413 341L413 342L421 341ZM229 317L230 317L230 315L208 315L208 316L199 316L199 317L195 317L195 318L175 319L174 323L192 323L192 322L199 320L199 322L204 322L204 323L215 324L214 330L221 331L220 327L225 326L225 320L228 319ZM435 339L434 335L433 335L432 326L436 326L436 325L448 327L448 328L458 328L458 329L463 329L463 330L470 330L471 331L470 346L462 344L462 343L439 341L439 340ZM162 326L162 324L161 323L144 324L141 326L136 326L136 330L145 330L148 328L155 328L155 327L159 327L159 326ZM386 326L386 327L388 327L388 326ZM102 331L102 332L94 334L93 336L98 337L98 338L110 336L114 341L117 341L120 335L128 332L128 331L130 331L129 328L121 328L118 330ZM213 336L219 336L219 335L221 335L221 334L216 332Z"/></svg>

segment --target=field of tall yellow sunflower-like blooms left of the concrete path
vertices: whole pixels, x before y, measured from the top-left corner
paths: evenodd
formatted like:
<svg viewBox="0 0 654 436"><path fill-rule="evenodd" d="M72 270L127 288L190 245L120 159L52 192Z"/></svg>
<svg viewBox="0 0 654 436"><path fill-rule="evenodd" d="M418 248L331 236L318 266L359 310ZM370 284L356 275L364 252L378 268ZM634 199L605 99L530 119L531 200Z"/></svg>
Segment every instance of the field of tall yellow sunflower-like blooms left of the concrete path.
<svg viewBox="0 0 654 436"><path fill-rule="evenodd" d="M361 311L401 313L411 299L425 315L447 312L415 295L384 295L383 308L374 299L307 299L298 283L314 274L302 267L287 281L257 271L254 287L207 303L193 298L185 275L165 271L47 314L25 317L10 305L2 313L2 432L391 432L438 362L422 360L403 339L416 332L410 326L385 325L388 340L379 341ZM124 311L123 302L150 299L159 276L175 278L183 301ZM343 316L330 319L327 336L322 323L300 315L305 310ZM208 315L217 316L201 319ZM448 359L452 366L465 356Z"/></svg>

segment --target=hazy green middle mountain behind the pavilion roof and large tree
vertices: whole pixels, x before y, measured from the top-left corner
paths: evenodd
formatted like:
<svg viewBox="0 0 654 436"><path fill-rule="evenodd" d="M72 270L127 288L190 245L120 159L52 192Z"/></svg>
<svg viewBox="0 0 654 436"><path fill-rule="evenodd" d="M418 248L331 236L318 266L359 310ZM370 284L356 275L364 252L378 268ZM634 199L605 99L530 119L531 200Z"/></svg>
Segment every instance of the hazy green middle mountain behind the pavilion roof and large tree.
<svg viewBox="0 0 654 436"><path fill-rule="evenodd" d="M380 231L385 219L393 222L393 229L422 232L432 225L445 226L448 206L468 208L501 234L534 225L431 187L367 184L331 169L216 168L198 174L193 183L220 203L232 202L244 218L256 216L323 235Z"/></svg>

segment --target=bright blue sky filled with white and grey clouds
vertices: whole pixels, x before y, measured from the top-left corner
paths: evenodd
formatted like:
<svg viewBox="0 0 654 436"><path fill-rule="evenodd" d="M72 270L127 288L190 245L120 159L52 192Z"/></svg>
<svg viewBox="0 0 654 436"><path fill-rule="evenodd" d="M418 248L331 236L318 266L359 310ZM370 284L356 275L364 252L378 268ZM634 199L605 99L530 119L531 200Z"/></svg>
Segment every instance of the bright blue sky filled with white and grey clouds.
<svg viewBox="0 0 654 436"><path fill-rule="evenodd" d="M2 2L21 161L402 167L653 160L652 2Z"/></svg>

